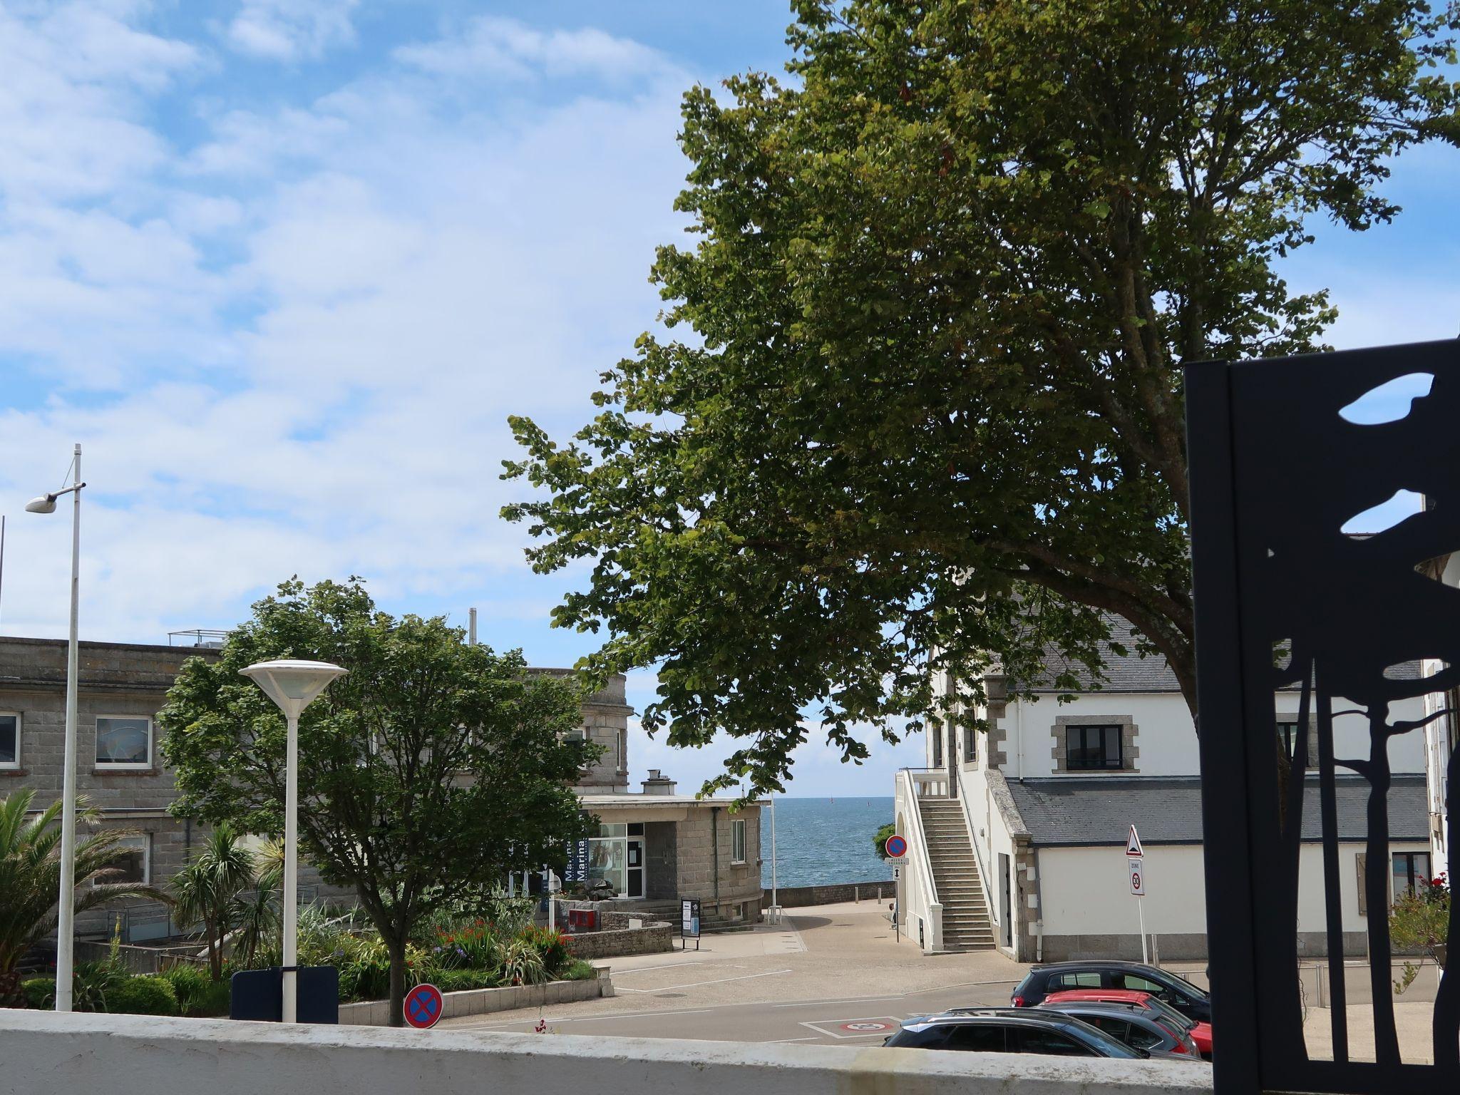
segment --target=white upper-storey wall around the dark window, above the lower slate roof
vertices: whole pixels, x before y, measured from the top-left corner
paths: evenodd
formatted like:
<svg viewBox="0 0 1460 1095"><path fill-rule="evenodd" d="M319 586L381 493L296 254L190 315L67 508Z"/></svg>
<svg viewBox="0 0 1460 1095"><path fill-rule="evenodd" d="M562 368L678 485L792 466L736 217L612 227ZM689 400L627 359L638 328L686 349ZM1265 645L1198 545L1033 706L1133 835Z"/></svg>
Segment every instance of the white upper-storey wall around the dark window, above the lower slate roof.
<svg viewBox="0 0 1460 1095"><path fill-rule="evenodd" d="M1298 715L1298 694L1279 692L1276 710L1280 714ZM1339 717L1340 711L1352 711L1353 705L1334 704L1334 753L1337 756L1368 758L1368 729L1359 715ZM1422 698L1405 699L1390 705L1390 720L1418 720L1424 717ZM1041 696L1034 704L1012 702L1000 727L1009 733L1004 752L1009 764L1004 774L1010 780L1064 775L1054 766L1054 726L1060 715L1102 717L1130 715L1136 723L1136 746L1140 750L1132 775L1199 775L1202 771L1197 752L1196 727L1191 712L1180 694L1139 692L1086 692L1069 704L1056 698ZM1314 758L1314 762L1317 758ZM1410 731L1390 739L1390 768L1396 772L1425 771L1425 736ZM1115 772L1070 774L1079 778L1108 778Z"/></svg>

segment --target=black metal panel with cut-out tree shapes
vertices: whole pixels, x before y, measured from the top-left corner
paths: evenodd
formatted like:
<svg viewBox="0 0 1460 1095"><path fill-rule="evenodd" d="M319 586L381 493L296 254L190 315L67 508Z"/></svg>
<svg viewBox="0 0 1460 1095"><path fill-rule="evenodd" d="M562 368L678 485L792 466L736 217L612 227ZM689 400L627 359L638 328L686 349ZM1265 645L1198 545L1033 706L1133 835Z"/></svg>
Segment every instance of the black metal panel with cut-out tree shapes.
<svg viewBox="0 0 1460 1095"><path fill-rule="evenodd" d="M1403 418L1355 425L1340 416L1365 393L1416 372L1432 377L1431 390ZM1460 588L1422 566L1460 550L1460 343L1191 365L1186 384L1218 1092L1460 1091L1460 974L1441 980L1437 1063L1403 1063L1383 915L1388 743L1424 733L1424 720L1399 721L1388 705L1438 694L1460 673ZM1400 489L1422 493L1424 512L1368 537L1340 531ZM1419 660L1442 667L1428 679L1399 669ZM1279 688L1299 692L1301 733L1291 755L1278 745ZM1334 753L1334 701L1346 724L1367 727L1364 755ZM1315 758L1308 755L1310 712L1318 727ZM1332 1061L1310 1060L1304 1048L1298 974L1304 772L1313 769L1324 841ZM1345 969L1342 961L1339 769L1369 784L1359 883L1369 953L1380 958L1368 969ZM1346 1060L1353 1041L1342 1006L1346 975L1367 981L1375 1002L1377 1061Z"/></svg>

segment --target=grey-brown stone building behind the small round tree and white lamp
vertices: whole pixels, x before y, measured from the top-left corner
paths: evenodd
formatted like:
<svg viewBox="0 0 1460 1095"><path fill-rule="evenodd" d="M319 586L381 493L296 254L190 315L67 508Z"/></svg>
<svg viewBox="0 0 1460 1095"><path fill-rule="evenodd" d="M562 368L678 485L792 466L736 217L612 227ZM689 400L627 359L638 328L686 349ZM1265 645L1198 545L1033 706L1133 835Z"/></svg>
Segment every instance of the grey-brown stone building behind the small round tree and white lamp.
<svg viewBox="0 0 1460 1095"><path fill-rule="evenodd" d="M174 818L177 790L162 765L156 714L182 663L218 657L216 647L82 642L77 688L77 794L99 812L98 825L126 828L131 850L127 879L165 885L182 867L204 831ZM569 670L539 670L566 675ZM628 720L623 677L588 696L583 733L603 755L575 788L599 815L590 842L591 877L609 880L625 904L698 898L707 918L755 920L761 908L759 809L730 815L729 802L676 796L656 778L629 793ZM66 730L66 642L0 637L0 797L35 790L44 809L61 793ZM82 829L85 831L85 829ZM302 901L347 898L323 886L301 863ZM117 902L77 918L77 933L121 931L127 942L172 934L156 902Z"/></svg>

